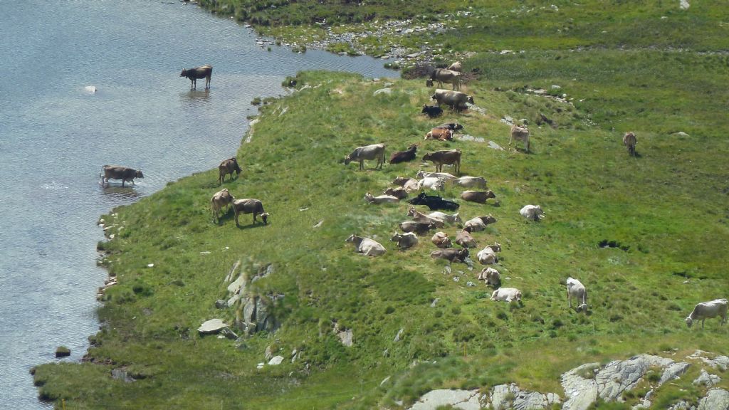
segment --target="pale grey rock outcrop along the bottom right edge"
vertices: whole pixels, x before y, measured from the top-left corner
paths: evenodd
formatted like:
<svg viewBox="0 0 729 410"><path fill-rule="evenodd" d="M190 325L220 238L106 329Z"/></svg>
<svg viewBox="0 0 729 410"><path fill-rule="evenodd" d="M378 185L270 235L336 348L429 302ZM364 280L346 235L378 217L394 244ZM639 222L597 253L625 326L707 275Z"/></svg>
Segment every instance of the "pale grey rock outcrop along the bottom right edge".
<svg viewBox="0 0 729 410"><path fill-rule="evenodd" d="M606 402L624 402L625 393L634 390L639 384L649 384L648 390L638 403L632 407L649 409L655 396L660 394L658 388L667 382L680 379L687 369L693 365L708 365L709 368L725 371L729 366L729 357L711 355L697 350L685 357L687 361L675 361L656 355L637 355L627 360L615 360L607 365L587 363L566 371L561 376L565 401L561 402L555 393L529 392L521 390L516 384L500 384L493 387L488 394L479 394L479 390L432 390L423 395L410 409L436 409L438 406L452 406L455 409L551 409L555 404L562 404L563 410L587 410L598 399ZM647 377L649 373L660 372L655 377ZM696 404L688 401L677 401L669 410L729 410L729 391L715 387L721 377L701 368L701 374L693 381L695 386L706 387L706 394L698 398Z"/></svg>

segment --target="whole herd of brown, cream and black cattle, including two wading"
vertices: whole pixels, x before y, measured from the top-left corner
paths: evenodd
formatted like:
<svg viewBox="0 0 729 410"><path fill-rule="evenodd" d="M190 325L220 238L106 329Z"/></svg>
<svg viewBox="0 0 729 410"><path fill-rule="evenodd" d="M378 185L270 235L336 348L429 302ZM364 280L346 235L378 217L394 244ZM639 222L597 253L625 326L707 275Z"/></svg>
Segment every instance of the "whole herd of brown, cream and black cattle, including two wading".
<svg viewBox="0 0 729 410"><path fill-rule="evenodd" d="M206 78L206 88L210 86L210 79L212 74L212 66L206 65L201 67L195 67L194 69L183 69L180 77L187 77L192 82L191 88L195 88L195 82L198 79ZM448 69L436 69L433 71L429 80L426 82L427 86L432 86L434 81L439 82L440 86L443 86L443 82L448 82L453 85L453 90L437 89L432 96L432 99L437 101L436 106L424 105L422 113L429 117L437 117L443 114L443 109L440 108L441 104L448 105L452 110L460 112L462 109L467 109L467 103L474 104L472 96L468 96L465 93L461 93L461 63L453 63ZM440 141L451 141L453 140L453 134L463 129L463 125L459 123L444 123L432 128L425 135L425 139L436 139ZM529 129L526 125L513 125L510 133L509 145L515 139L523 142L524 149L529 152ZM625 133L623 136L623 144L628 149L628 153L631 156L635 156L636 136L633 132ZM409 162L416 159L417 144L410 144L410 146L404 151L394 152L390 158L390 164L397 164L403 162ZM398 204L400 200L408 197L408 194L413 192L419 192L414 198L408 201L411 205L425 205L428 206L431 211L434 209L444 209L455 211L459 208L459 204L455 201L449 201L441 198L440 196L427 195L425 190L443 190L446 184L451 184L454 187L466 187L466 188L477 188L479 190L464 190L461 192L461 199L464 201L475 202L478 204L486 204L489 198L496 198L491 190L486 190L486 179L483 177L471 177L471 176L460 176L461 174L461 150L439 150L434 152L428 152L423 156L423 161L432 162L435 166L435 172L418 171L416 178L410 177L397 177L392 182L394 187L389 187L383 191L381 196L373 196L372 193L365 193L364 200L369 204ZM357 147L349 155L344 158L344 164L348 165L351 162L359 163L359 170L364 170L365 160L376 160L377 165L375 169L382 169L383 163L385 162L385 144L371 144L363 147ZM453 171L459 177L455 175L444 173L443 166L453 166ZM109 179L121 179L122 187L125 182L134 183L135 178L144 178L141 171L136 169L130 169L125 166L103 166L102 170L104 174L101 176L102 183L109 183ZM218 166L219 174L217 182L222 184L225 182L225 177L230 175L230 180L233 179L233 173L236 176L241 174L241 167L238 166L238 160L228 158L223 160ZM233 208L235 225L240 226L238 222L239 214L252 214L253 224L257 222L257 217L260 217L262 223L268 224L268 212L263 209L263 204L260 200L255 198L244 198L235 199L233 195L224 188L215 193L210 200L210 209L212 219L214 222L219 221L219 212L225 209L225 212L230 211L230 207ZM545 217L542 208L539 205L526 205L523 206L519 213L526 220L539 221ZM419 243L418 236L426 236L430 234L430 231L435 230L431 237L431 242L437 247L436 250L430 252L431 258L440 258L448 260L449 263L472 263L469 259L469 249L477 248L477 241L472 236L472 233L486 230L486 226L496 223L496 218L491 214L473 217L467 220L465 223L461 219L459 212L454 214L446 214L440 211L429 212L424 214L416 209L415 206L408 207L408 216L410 220L405 220L399 223L399 228L402 233L393 233L391 241L397 243L397 249L400 251L408 250L415 247ZM455 240L451 240L448 233L439 231L445 228L445 226L458 225L459 230L456 231ZM346 239L347 242L354 244L356 251L368 256L383 255L386 252L385 247L378 243L374 239L356 236L354 233ZM460 248L454 248L453 244L457 244ZM501 287L501 275L499 271L494 268L494 265L499 263L499 258L496 255L501 252L501 245L498 243L487 245L482 250L478 251L476 258L480 264L485 266L477 275L477 280L483 280L487 286L494 287L494 292L491 294L491 300L493 301L521 301L522 293L513 287ZM572 308L572 298L575 298L579 303L577 305L577 311L587 312L587 289L585 285L569 277L566 280L567 288L567 300L569 307ZM721 324L727 322L727 299L717 299L709 302L698 303L693 312L686 317L686 324L691 327L694 321L701 320L701 326L703 328L703 320L711 317L720 317L722 319Z"/></svg>

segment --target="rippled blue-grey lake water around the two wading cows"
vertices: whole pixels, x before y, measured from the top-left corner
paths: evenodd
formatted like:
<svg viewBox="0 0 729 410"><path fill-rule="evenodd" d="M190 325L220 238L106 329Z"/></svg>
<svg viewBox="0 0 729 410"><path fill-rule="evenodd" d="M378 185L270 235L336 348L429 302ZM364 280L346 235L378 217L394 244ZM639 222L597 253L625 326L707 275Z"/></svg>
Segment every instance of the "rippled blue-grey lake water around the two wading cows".
<svg viewBox="0 0 729 410"><path fill-rule="evenodd" d="M0 407L47 409L28 370L98 330L101 214L235 155L257 96L303 69L398 77L383 60L285 47L176 1L0 0ZM211 90L183 67L214 66ZM93 85L96 93L86 90ZM144 171L104 188L104 164Z"/></svg>

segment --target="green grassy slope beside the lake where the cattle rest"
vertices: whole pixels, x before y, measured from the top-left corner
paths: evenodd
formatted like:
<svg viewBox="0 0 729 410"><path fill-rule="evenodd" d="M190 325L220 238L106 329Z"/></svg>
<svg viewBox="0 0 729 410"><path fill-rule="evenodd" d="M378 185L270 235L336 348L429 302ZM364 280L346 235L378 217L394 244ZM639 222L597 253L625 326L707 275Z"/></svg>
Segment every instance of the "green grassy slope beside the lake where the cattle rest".
<svg viewBox="0 0 729 410"><path fill-rule="evenodd" d="M400 4L373 7L421 16L459 7ZM103 296L104 326L84 363L36 368L41 397L58 408L63 399L66 409L400 409L429 390L505 382L564 398L560 374L582 363L728 354L729 330L718 320L703 330L683 322L698 301L729 294L727 11L703 3L682 10L674 1L555 8L477 1L466 9L480 16L471 28L459 19L438 39L421 34L420 42L470 52L464 92L477 107L462 114L419 115L432 95L422 79L297 74L295 93L260 109L238 151L243 173L222 186L261 199L269 225L241 215L236 228L232 214L211 223L217 170L104 215L113 239L99 248L117 280ZM516 52L490 52L502 47ZM423 141L453 120L506 147L507 116L529 121L530 154L477 140ZM625 131L638 137L638 158L620 142ZM481 247L502 244L497 268L523 303L489 301L492 289L475 279L480 266L432 260L428 237L395 250L389 236L408 206L370 206L362 196L434 167L416 160L357 171L341 163L354 147L378 142L388 153L417 143L419 156L462 150L462 174L486 177L498 202L461 203L459 211L496 217L474 236ZM449 185L443 196L460 191ZM541 205L547 218L527 223L518 214L524 204ZM455 236L456 228L445 231ZM344 241L351 233L375 237L388 252L356 255ZM243 274L243 297L261 301L271 318L249 335L235 326L243 303L216 306L230 298L226 276L238 262L231 279ZM566 306L568 276L588 287L590 314ZM198 334L213 318L236 335ZM351 346L340 339L346 331ZM258 368L267 351L283 363ZM691 384L696 374L660 387L656 406L703 395ZM639 398L599 408L630 409Z"/></svg>

